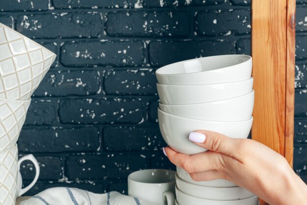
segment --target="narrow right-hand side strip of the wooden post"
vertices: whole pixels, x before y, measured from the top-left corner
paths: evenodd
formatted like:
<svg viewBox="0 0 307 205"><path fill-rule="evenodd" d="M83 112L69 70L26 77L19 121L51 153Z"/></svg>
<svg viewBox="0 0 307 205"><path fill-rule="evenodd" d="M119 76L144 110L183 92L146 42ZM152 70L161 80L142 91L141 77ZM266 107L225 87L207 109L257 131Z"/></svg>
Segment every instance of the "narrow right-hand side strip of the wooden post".
<svg viewBox="0 0 307 205"><path fill-rule="evenodd" d="M294 79L295 79L295 0L287 1L287 59L286 59L286 113L285 158L293 167L294 141Z"/></svg>

